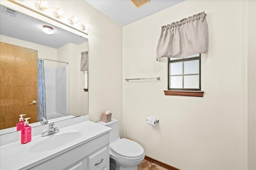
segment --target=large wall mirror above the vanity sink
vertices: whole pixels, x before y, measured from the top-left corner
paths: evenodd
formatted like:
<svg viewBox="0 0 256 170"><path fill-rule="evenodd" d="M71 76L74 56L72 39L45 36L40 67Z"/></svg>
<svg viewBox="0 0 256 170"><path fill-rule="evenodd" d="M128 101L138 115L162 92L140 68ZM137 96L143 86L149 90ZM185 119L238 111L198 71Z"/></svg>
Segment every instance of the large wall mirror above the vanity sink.
<svg viewBox="0 0 256 170"><path fill-rule="evenodd" d="M88 114L88 72L80 71L81 53L88 51L88 39L0 7L0 135L16 131L20 114L31 117L28 121L32 127L41 125L37 111L42 109L38 92L43 86L38 85L38 59L44 62L45 80L45 101L39 103L45 103L48 123ZM43 25L52 27L54 33L44 33ZM32 59L24 49L35 53L37 58ZM29 56L27 61L26 56ZM35 69L30 70L32 67ZM10 75L12 72L15 75ZM36 81L33 82L34 73Z"/></svg>

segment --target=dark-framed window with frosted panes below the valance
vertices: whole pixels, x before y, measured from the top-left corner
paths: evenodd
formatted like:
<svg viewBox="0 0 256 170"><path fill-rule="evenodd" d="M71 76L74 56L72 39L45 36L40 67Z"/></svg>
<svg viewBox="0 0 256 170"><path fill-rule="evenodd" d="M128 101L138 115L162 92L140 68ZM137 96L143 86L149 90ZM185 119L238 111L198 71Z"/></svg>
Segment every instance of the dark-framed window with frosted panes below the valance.
<svg viewBox="0 0 256 170"><path fill-rule="evenodd" d="M201 91L201 54L168 58L168 90Z"/></svg>

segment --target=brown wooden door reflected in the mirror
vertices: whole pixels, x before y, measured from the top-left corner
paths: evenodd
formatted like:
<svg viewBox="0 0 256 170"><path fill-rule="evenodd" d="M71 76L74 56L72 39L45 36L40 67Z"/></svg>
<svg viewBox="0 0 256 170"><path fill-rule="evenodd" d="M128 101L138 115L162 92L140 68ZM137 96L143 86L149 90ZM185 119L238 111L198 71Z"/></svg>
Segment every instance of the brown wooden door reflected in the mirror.
<svg viewBox="0 0 256 170"><path fill-rule="evenodd" d="M0 42L0 129L37 122L38 51Z"/></svg>

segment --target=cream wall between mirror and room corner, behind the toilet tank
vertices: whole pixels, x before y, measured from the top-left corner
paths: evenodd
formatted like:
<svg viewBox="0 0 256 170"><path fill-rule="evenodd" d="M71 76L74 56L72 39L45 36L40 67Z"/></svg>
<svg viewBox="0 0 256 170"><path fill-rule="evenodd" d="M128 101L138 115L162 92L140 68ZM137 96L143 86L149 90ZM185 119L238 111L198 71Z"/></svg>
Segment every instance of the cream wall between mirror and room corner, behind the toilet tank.
<svg viewBox="0 0 256 170"><path fill-rule="evenodd" d="M54 0L49 4L89 24L89 119L100 121L101 113L110 110L121 128L122 27L84 0Z"/></svg>

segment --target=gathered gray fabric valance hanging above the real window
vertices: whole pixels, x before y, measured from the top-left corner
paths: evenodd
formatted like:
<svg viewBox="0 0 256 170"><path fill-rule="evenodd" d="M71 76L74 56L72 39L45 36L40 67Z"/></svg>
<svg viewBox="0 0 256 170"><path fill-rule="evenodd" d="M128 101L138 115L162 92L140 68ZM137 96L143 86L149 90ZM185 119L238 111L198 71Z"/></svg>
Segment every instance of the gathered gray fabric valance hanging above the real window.
<svg viewBox="0 0 256 170"><path fill-rule="evenodd" d="M156 60L160 57L188 57L207 51L208 24L206 14L201 12L162 26L156 48Z"/></svg>

